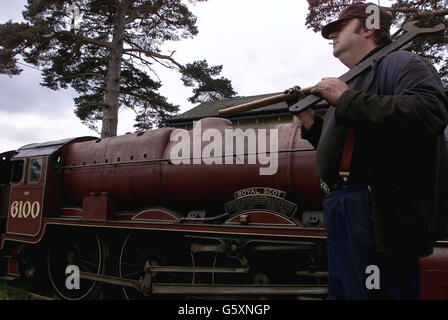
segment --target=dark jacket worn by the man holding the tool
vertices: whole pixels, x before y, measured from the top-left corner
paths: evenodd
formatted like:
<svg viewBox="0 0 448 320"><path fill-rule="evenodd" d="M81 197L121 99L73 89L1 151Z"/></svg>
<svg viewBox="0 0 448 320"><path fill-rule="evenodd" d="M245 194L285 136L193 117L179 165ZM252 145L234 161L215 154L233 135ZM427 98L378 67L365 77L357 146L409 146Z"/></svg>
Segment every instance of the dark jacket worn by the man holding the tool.
<svg viewBox="0 0 448 320"><path fill-rule="evenodd" d="M364 168L371 188L377 251L427 256L438 237L440 158L448 123L437 71L420 56L397 51L350 87L333 116L336 126L355 130L357 167Z"/></svg>

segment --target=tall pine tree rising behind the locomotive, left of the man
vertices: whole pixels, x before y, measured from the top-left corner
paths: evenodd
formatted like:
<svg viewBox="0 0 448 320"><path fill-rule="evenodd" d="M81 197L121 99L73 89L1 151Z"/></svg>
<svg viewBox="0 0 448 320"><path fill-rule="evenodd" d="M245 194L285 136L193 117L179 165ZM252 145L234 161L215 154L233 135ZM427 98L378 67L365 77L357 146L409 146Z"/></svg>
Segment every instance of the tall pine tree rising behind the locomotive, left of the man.
<svg viewBox="0 0 448 320"><path fill-rule="evenodd" d="M67 28L79 18L75 7L82 19ZM194 89L191 102L236 94L228 79L217 78L222 66L205 60L182 65L174 52L162 53L166 41L198 33L196 17L180 0L28 0L23 17L26 22L0 25L0 73L20 74L23 58L42 70L41 85L71 86L79 93L76 115L92 129L102 120L101 137L117 134L120 107L135 111L141 130L178 111L157 92L162 84L150 77L154 63L181 74Z"/></svg>

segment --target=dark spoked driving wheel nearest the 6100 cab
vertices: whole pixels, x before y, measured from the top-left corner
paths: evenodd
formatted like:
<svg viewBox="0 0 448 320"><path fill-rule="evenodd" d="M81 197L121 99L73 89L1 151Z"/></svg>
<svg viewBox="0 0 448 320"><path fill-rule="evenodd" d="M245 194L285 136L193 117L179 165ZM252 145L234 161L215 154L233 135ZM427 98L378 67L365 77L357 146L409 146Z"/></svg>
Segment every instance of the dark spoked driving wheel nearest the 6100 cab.
<svg viewBox="0 0 448 320"><path fill-rule="evenodd" d="M48 275L53 288L67 300L95 298L100 292L100 284L83 278L77 282L73 270L101 274L105 266L104 258L103 245L96 233L59 234L54 237L47 256ZM66 275L66 271L71 273Z"/></svg>

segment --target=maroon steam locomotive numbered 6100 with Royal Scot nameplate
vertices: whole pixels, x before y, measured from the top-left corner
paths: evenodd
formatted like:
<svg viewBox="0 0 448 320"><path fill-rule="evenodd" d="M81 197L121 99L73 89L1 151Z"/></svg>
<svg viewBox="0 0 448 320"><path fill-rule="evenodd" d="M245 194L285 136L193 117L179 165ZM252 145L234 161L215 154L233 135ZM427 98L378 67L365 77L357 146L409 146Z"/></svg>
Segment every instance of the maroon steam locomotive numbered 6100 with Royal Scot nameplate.
<svg viewBox="0 0 448 320"><path fill-rule="evenodd" d="M198 124L0 154L1 274L72 300L110 285L128 299L325 298L322 192L299 122ZM421 260L424 298L448 298L447 243Z"/></svg>

